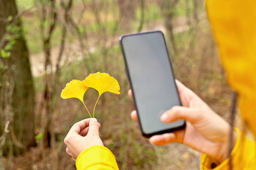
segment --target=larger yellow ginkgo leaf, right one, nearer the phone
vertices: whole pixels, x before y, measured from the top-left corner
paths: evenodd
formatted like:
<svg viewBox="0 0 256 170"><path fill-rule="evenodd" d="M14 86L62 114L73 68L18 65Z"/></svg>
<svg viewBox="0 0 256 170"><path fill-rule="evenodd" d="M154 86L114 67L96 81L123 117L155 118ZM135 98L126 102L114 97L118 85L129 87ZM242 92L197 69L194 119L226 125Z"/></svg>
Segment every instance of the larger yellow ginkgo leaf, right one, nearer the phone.
<svg viewBox="0 0 256 170"><path fill-rule="evenodd" d="M120 86L118 81L109 76L108 73L93 73L89 74L85 80L83 80L83 84L86 87L92 87L99 92L99 96L101 96L104 92L111 92L114 94L120 94Z"/></svg>

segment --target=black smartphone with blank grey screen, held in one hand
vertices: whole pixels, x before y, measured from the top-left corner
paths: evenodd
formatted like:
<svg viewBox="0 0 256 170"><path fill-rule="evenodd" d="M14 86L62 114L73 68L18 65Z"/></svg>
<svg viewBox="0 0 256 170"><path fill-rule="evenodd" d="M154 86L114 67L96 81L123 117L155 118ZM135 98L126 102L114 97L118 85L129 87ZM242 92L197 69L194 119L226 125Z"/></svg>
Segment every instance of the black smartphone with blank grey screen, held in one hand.
<svg viewBox="0 0 256 170"><path fill-rule="evenodd" d="M142 135L149 138L184 129L184 120L170 124L160 120L164 111L180 106L163 32L127 34L120 37L120 44Z"/></svg>

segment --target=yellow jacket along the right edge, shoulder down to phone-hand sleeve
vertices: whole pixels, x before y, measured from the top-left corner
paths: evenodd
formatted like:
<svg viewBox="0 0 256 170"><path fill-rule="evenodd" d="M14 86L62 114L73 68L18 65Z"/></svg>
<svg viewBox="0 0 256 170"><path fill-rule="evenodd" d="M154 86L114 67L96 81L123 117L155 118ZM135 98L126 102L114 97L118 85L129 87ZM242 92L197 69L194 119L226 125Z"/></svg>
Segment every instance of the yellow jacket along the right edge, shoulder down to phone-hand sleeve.
<svg viewBox="0 0 256 170"><path fill-rule="evenodd" d="M206 0L206 8L227 83L237 92L241 116L256 137L256 1ZM256 169L255 141L237 132L232 169ZM218 165L203 153L200 167L229 169L229 161Z"/></svg>

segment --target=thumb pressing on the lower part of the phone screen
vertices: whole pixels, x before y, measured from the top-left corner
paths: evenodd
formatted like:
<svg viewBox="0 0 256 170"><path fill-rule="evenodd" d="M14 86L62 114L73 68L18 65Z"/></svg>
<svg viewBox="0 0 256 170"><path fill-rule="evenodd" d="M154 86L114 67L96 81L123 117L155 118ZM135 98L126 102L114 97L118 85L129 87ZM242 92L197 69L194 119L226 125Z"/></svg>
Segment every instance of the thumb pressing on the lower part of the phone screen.
<svg viewBox="0 0 256 170"><path fill-rule="evenodd" d="M186 120L192 124L200 120L200 108L186 108L183 106L173 106L170 110L163 113L161 121L164 123Z"/></svg>

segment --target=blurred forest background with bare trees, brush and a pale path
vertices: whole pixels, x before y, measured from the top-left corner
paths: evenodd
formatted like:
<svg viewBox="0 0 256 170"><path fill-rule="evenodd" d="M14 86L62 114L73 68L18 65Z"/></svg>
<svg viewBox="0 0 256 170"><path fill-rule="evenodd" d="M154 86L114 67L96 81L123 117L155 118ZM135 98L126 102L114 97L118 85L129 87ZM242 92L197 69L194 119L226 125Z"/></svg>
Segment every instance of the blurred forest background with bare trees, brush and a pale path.
<svg viewBox="0 0 256 170"><path fill-rule="evenodd" d="M76 168L63 139L88 114L60 92L97 71L120 83L121 94L104 94L95 112L120 169L199 169L200 153L150 145L129 117L118 37L149 30L164 32L175 77L230 120L232 91L202 0L0 0L0 169ZM97 91L84 97L90 110Z"/></svg>

